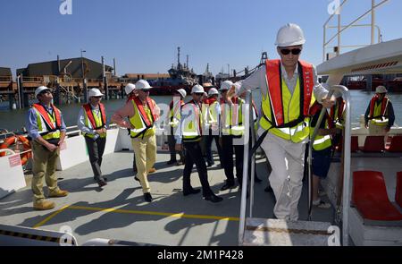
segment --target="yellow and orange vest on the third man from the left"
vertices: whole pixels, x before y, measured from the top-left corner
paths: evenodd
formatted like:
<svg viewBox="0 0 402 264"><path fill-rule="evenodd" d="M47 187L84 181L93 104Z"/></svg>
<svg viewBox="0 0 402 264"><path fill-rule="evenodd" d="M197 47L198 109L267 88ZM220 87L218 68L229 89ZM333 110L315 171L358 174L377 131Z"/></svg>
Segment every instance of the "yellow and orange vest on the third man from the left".
<svg viewBox="0 0 402 264"><path fill-rule="evenodd" d="M151 98L147 98L147 107L144 107L138 97L133 98L131 102L134 107L135 115L130 117L130 123L134 126L134 128L130 130L130 137L135 139L155 135L155 101Z"/></svg>

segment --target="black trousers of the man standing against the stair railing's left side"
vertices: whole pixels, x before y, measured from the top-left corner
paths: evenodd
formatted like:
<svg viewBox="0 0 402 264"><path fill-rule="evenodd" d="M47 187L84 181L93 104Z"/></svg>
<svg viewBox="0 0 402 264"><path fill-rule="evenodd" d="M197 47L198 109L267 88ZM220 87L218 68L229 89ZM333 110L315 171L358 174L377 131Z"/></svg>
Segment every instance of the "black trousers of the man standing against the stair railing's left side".
<svg viewBox="0 0 402 264"><path fill-rule="evenodd" d="M234 183L233 149L236 156L236 177L241 185L241 180L243 177L244 145L233 145L233 136L222 136L223 167L229 183Z"/></svg>

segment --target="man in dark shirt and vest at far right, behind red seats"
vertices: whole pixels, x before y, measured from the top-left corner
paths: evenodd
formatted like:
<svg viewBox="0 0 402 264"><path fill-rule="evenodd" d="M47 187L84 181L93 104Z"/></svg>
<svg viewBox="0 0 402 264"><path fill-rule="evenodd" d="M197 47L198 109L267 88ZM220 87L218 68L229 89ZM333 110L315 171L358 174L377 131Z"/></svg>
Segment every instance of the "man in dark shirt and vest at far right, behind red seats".
<svg viewBox="0 0 402 264"><path fill-rule="evenodd" d="M387 92L384 86L378 86L365 110L364 124L371 135L385 135L394 125L394 107L387 97Z"/></svg>

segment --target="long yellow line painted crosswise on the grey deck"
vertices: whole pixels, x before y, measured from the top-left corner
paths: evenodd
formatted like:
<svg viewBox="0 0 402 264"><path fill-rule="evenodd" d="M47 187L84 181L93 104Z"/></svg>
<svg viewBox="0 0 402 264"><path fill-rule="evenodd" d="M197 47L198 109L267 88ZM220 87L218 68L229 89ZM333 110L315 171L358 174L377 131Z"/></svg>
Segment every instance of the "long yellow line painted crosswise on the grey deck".
<svg viewBox="0 0 402 264"><path fill-rule="evenodd" d="M65 208L65 209L67 209L67 208ZM139 211L139 210L128 210L128 209L103 209L103 208L75 206L75 205L69 206L68 209L90 210L90 211L111 212L111 213L121 213L121 214L133 214L133 215L150 215L150 216L177 217L177 218L197 218L197 219L214 219L214 220L225 220L225 221L239 221L239 217L218 217L218 216L204 216L204 215L186 215L184 213L163 213L163 212Z"/></svg>

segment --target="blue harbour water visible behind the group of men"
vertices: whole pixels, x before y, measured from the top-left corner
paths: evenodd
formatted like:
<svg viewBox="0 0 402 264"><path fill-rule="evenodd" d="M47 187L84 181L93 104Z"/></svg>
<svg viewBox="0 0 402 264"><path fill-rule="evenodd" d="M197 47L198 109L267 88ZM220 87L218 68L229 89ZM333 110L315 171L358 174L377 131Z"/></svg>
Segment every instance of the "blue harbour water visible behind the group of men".
<svg viewBox="0 0 402 264"><path fill-rule="evenodd" d="M261 102L261 99L257 97L259 91L255 91L255 103L258 106ZM358 123L360 115L364 115L365 109L367 108L370 99L373 97L373 92L366 92L362 90L351 90L352 96L352 122ZM169 104L172 101L172 97L169 96L160 96L153 97L157 104ZM390 93L389 98L392 101L395 111L395 117L398 125L402 125L402 115L398 109L402 109L402 94L400 93ZM188 101L190 97L186 98ZM106 107L107 120L110 120L110 117L113 113L123 106L125 99L113 99L109 101L103 101ZM1 103L0 105L0 128L5 128L8 131L21 131L21 128L25 126L25 118L27 109L22 110L8 110L8 102ZM77 115L80 111L80 104L71 104L71 105L63 105L60 106L60 109L63 111L64 122L67 126L76 125L77 123Z"/></svg>

